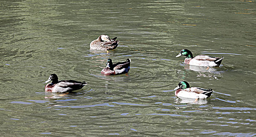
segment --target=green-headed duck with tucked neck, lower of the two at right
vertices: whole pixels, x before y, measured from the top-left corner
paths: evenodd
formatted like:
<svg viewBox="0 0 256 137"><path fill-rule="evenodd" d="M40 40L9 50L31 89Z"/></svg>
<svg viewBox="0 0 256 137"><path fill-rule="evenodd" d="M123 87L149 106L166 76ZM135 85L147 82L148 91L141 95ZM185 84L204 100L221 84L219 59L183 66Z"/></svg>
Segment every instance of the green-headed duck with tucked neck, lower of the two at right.
<svg viewBox="0 0 256 137"><path fill-rule="evenodd" d="M206 99L210 97L213 92L211 88L190 87L187 81L180 81L174 90L175 96L193 99Z"/></svg>

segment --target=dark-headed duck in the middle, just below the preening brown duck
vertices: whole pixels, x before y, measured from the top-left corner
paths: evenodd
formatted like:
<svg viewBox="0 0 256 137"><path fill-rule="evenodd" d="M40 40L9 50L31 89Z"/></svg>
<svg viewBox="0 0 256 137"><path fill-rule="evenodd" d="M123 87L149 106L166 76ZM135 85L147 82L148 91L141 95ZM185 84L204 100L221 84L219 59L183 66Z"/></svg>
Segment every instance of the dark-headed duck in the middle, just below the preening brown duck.
<svg viewBox="0 0 256 137"><path fill-rule="evenodd" d="M106 63L106 68L101 70L102 75L119 75L128 73L130 70L131 59L126 59L124 62L118 62L113 64L112 59L108 59Z"/></svg>

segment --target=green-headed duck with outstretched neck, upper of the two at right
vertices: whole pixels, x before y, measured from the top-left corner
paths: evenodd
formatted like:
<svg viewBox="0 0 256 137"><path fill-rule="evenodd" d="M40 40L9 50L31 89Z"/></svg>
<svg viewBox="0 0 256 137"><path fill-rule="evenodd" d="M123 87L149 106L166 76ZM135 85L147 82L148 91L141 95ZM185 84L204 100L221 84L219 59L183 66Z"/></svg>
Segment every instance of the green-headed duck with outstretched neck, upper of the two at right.
<svg viewBox="0 0 256 137"><path fill-rule="evenodd" d="M197 55L193 57L192 52L187 49L182 49L176 58L179 56L186 56L184 60L185 64L202 67L219 67L219 65L221 65L221 61L224 59L223 56L222 58L207 55Z"/></svg>

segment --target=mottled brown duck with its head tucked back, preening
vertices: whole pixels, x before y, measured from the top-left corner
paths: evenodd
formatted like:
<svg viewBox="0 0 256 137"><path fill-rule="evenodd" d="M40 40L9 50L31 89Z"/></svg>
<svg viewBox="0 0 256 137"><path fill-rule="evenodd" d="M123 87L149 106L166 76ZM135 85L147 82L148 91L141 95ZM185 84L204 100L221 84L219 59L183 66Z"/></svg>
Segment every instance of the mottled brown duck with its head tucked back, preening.
<svg viewBox="0 0 256 137"><path fill-rule="evenodd" d="M113 50L116 49L119 40L117 37L110 39L108 35L100 35L96 40L91 41L91 50Z"/></svg>

